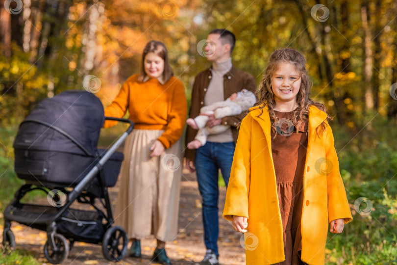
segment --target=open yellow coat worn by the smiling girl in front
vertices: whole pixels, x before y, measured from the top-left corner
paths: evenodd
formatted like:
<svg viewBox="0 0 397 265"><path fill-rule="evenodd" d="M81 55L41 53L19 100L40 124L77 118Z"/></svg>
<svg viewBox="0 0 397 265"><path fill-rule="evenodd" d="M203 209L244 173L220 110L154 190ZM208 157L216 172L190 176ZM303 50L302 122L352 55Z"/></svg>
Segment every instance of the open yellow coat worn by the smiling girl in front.
<svg viewBox="0 0 397 265"><path fill-rule="evenodd" d="M247 265L285 260L268 106L256 117L260 113L258 106L252 107L242 121L223 211L227 220L233 215L248 218ZM316 134L325 119L325 112L310 106L301 221L301 260L309 265L324 264L328 223L352 220L331 128L322 137Z"/></svg>

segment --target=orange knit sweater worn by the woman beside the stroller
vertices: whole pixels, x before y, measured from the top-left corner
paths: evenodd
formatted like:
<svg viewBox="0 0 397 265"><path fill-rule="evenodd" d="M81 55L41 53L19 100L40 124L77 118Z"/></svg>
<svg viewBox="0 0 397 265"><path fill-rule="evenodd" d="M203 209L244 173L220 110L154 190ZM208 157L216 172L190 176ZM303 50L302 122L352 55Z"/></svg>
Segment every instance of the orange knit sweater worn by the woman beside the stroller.
<svg viewBox="0 0 397 265"><path fill-rule="evenodd" d="M135 129L165 130L158 140L170 148L182 135L187 116L187 102L182 82L172 77L162 85L157 79L144 83L137 81L139 75L132 75L123 84L119 95L105 109L105 116L124 116L129 110L129 119ZM105 121L104 128L116 125Z"/></svg>

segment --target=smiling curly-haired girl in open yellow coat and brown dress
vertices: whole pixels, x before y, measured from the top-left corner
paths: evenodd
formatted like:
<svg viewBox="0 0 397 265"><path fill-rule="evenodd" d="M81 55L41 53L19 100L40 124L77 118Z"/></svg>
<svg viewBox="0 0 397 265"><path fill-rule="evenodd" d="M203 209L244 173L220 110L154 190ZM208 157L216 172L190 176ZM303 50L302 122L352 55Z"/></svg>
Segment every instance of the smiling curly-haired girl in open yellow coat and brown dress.
<svg viewBox="0 0 397 265"><path fill-rule="evenodd" d="M351 221L325 106L309 98L305 58L272 53L239 131L223 217L245 233L248 265L324 264L328 223Z"/></svg>

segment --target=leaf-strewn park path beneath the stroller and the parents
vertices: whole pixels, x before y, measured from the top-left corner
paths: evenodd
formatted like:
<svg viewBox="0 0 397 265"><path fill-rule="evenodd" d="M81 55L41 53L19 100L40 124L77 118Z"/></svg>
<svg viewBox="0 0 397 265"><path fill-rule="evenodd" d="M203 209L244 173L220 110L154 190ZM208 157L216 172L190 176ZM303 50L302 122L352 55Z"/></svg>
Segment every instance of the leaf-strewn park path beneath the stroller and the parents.
<svg viewBox="0 0 397 265"><path fill-rule="evenodd" d="M110 188L110 197L116 202L119 182ZM226 189L220 188L219 208L223 210ZM114 210L114 205L113 208ZM224 220L220 211L219 252L220 264L243 265L245 264L244 248L240 244L241 233L233 230L231 223ZM183 170L181 182L181 199L179 205L179 233L177 237L167 244L167 254L174 265L193 265L202 259L205 254L203 242L203 228L201 217L201 203L196 175L190 174L186 168ZM43 254L43 246L47 235L43 231L31 229L13 222L17 249L29 251L37 257L42 265L49 264ZM3 227L0 226L0 231ZM2 233L1 233L2 234ZM0 235L2 240L2 235ZM151 255L155 249L156 240L147 238L142 240L142 258L124 258L121 262L112 263L104 259L100 245L75 242L63 265L149 265ZM129 246L129 245L128 245ZM46 263L47 262L47 263ZM154 265L154 263L152 263Z"/></svg>

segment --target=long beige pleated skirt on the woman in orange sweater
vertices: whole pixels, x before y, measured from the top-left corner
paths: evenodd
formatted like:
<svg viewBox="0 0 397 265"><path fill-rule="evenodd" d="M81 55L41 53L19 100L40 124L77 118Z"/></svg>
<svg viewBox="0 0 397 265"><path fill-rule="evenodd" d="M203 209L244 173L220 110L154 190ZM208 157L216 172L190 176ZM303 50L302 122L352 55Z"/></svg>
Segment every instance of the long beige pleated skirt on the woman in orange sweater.
<svg viewBox="0 0 397 265"><path fill-rule="evenodd" d="M134 130L125 141L114 219L129 239L172 241L177 235L182 141L150 158L149 147L163 132Z"/></svg>

